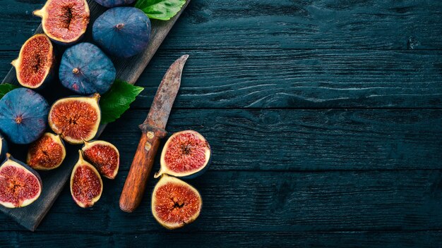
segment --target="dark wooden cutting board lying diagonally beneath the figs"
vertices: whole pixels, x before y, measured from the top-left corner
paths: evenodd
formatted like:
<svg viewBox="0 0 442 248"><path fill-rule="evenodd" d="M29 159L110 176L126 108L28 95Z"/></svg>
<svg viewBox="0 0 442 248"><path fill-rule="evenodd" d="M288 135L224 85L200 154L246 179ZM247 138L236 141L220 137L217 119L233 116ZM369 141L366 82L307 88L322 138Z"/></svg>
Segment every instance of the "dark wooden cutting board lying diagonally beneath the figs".
<svg viewBox="0 0 442 248"><path fill-rule="evenodd" d="M117 78L120 80L124 80L131 84L134 84L138 77L143 73L143 70L148 65L150 59L157 51L158 47L165 39L169 30L172 28L174 23L177 21L181 13L184 11L186 6L189 4L190 0L186 1L186 4L181 9L181 11L174 16L171 20L160 21L160 20L151 20L152 22L152 36L150 39L150 44L148 49L146 49L142 54L138 54L131 58L112 58L114 62L114 66L117 69ZM90 23L88 27L88 31L86 32L85 37L82 42L92 42L91 39L91 26L94 20L100 16L107 8L96 4L95 1L88 0L88 4L90 7ZM38 17L35 17L38 18ZM36 33L41 33L42 27L37 29ZM58 50L58 57L61 56L62 52L66 47L55 45ZM177 58L180 54L177 54ZM173 61L171 61L172 63ZM4 78L2 83L11 83L18 85L18 81L16 79L16 71L14 68L11 68L8 75ZM160 84L160 82L158 82ZM51 87L48 87L44 91L40 92L44 97L46 97L49 101L49 104L52 104L52 101L59 99L60 97L65 97L68 95L72 95L72 92L68 92L67 89L61 87L59 82L53 82ZM102 125L99 130L99 134L104 130L105 125ZM17 146L11 144L10 152L11 154L22 160L25 158L25 152L27 147L25 146ZM73 166L75 165L78 159L78 149L80 146L67 145L66 149L66 159L64 163L54 171L44 171L40 172L43 182L43 189L40 198L37 199L34 203L29 206L25 206L21 209L7 209L3 206L0 206L0 210L6 213L8 216L11 216L15 221L23 225L25 228L34 231L37 226L40 224L46 213L51 208L52 204L54 204L55 199L59 196L61 190L64 185L68 181L68 178L71 176L71 171ZM73 203L74 204L74 203Z"/></svg>

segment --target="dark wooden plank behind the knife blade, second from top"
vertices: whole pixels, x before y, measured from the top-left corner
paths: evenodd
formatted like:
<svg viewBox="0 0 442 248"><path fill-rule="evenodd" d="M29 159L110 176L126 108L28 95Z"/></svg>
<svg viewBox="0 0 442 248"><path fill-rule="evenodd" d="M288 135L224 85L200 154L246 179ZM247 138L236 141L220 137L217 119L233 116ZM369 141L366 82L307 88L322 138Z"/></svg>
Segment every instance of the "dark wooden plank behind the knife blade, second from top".
<svg viewBox="0 0 442 248"><path fill-rule="evenodd" d="M185 52L180 109L442 107L442 51L279 49L160 49L133 107L149 106L170 61ZM0 73L16 54L0 52Z"/></svg>

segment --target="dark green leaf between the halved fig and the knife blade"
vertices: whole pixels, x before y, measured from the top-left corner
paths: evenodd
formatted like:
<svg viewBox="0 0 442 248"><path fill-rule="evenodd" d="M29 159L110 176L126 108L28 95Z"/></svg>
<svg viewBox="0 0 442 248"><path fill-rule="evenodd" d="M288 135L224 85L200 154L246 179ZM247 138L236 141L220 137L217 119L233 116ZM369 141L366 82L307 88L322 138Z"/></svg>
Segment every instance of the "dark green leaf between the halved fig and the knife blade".
<svg viewBox="0 0 442 248"><path fill-rule="evenodd" d="M129 105L143 89L122 80L115 80L109 91L100 98L101 123L112 123L117 120L129 109Z"/></svg>

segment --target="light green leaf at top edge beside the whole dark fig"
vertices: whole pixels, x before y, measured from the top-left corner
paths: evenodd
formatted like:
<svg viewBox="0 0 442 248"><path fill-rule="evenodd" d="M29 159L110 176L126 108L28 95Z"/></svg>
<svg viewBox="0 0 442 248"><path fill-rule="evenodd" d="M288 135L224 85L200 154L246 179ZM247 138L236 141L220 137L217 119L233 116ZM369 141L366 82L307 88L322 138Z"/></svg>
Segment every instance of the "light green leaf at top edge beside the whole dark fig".
<svg viewBox="0 0 442 248"><path fill-rule="evenodd" d="M135 7L151 19L169 20L177 15L184 4L186 0L138 0Z"/></svg>

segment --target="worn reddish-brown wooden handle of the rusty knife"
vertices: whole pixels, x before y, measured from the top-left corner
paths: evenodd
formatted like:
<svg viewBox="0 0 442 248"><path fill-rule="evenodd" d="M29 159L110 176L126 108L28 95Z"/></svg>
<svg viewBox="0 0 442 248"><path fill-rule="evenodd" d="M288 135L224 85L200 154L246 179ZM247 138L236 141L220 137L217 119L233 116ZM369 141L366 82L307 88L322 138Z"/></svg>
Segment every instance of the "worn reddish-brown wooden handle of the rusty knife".
<svg viewBox="0 0 442 248"><path fill-rule="evenodd" d="M143 199L155 154L157 154L162 137L165 137L167 133L165 130L154 128L148 124L141 124L140 128L142 130L141 139L120 197L120 209L128 213L133 212Z"/></svg>

